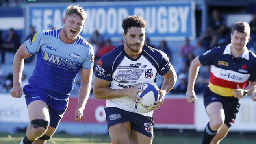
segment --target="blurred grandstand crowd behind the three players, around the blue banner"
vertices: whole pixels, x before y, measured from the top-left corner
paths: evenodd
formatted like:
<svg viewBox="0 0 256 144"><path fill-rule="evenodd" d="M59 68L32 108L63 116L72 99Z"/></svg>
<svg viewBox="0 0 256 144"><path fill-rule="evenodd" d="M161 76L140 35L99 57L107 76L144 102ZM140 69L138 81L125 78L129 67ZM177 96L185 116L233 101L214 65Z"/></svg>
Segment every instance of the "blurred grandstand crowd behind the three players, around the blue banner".
<svg viewBox="0 0 256 144"><path fill-rule="evenodd" d="M104 2L121 2L122 0L100 0ZM155 0L159 1L160 0ZM182 0L181 0L182 1ZM79 2L99 2L99 0L0 0L0 23L6 22L3 18L26 16L24 11L28 4L39 4L48 2L62 2L79 4ZM169 57L171 64L178 74L178 81L171 94L185 93L187 90L187 76L191 61L198 55L206 52L215 46L230 43L230 31L232 24L237 21L246 21L250 24L250 42L247 45L249 50L256 52L256 1L255 0L195 0L195 37L183 37L180 40L155 40L147 37L145 44L152 48L162 50ZM239 19L241 18L241 20ZM2 19L2 20L1 20ZM2 22L1 22L2 21ZM52 26L51 29L55 29ZM84 29L87 29L85 26ZM29 34L15 28L1 28L0 26L0 92L10 92L12 88L12 62L13 55L33 33L36 33L34 26L29 27ZM85 38L92 44L95 52L95 63L105 53L124 43L122 35L117 41L111 37L94 30L90 37ZM24 73L22 74L22 85L28 83L28 78L33 72L36 55L25 59ZM202 93L208 85L210 67L200 68L195 84L195 92ZM161 87L160 77L156 83ZM78 75L72 93L78 93L80 76ZM72 95L71 95L72 96Z"/></svg>

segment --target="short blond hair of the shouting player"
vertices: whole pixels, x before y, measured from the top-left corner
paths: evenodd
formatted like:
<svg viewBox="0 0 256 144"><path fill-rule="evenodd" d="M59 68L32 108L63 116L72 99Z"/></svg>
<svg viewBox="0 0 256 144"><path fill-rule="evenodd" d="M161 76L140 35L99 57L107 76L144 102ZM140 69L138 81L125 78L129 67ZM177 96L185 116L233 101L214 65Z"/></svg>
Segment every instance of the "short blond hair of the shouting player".
<svg viewBox="0 0 256 144"><path fill-rule="evenodd" d="M67 18L70 15L76 14L78 15L82 20L85 20L87 18L87 13L83 10L83 7L80 5L70 4L66 9L65 18Z"/></svg>

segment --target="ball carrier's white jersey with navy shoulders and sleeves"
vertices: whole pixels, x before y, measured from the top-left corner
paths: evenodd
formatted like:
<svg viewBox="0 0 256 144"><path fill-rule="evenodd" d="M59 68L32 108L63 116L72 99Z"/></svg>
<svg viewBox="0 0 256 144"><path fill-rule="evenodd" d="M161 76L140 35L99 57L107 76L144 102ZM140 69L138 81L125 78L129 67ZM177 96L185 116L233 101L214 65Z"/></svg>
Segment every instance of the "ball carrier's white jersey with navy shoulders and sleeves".
<svg viewBox="0 0 256 144"><path fill-rule="evenodd" d="M144 45L139 57L132 59L124 52L122 44L100 58L95 76L111 81L109 86L111 89L123 89L141 83L154 83L157 74L161 76L167 74L170 66L167 55L160 50ZM134 102L128 96L106 100L106 107L118 107L139 113L134 107ZM153 111L139 114L152 116Z"/></svg>

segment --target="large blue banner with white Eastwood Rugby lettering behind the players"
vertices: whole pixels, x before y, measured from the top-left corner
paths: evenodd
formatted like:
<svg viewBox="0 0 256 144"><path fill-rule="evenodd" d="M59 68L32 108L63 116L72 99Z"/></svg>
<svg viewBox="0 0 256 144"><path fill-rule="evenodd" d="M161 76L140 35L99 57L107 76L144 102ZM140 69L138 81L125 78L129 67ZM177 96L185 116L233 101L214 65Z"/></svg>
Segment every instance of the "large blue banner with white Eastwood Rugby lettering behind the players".
<svg viewBox="0 0 256 144"><path fill-rule="evenodd" d="M78 4L78 3L77 3ZM194 1L132 1L79 3L88 13L82 37L90 37L95 30L105 37L122 38L122 20L128 15L141 15L147 21L147 37L159 41L195 38ZM30 4L26 7L26 32L29 26L36 31L61 28L68 3Z"/></svg>

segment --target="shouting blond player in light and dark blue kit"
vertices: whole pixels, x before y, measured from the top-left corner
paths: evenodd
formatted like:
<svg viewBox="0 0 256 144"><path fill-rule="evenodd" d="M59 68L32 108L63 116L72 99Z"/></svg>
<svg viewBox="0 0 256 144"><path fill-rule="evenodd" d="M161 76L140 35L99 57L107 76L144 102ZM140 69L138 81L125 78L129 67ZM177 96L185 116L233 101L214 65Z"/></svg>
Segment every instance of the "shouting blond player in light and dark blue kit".
<svg viewBox="0 0 256 144"><path fill-rule="evenodd" d="M45 144L56 131L68 106L76 74L81 71L81 86L74 120L83 119L83 110L91 89L94 54L91 44L79 34L87 13L83 7L66 9L63 28L39 31L19 48L13 60L11 95L26 95L30 125L20 144ZM24 58L37 53L35 70L22 91L20 79Z"/></svg>

